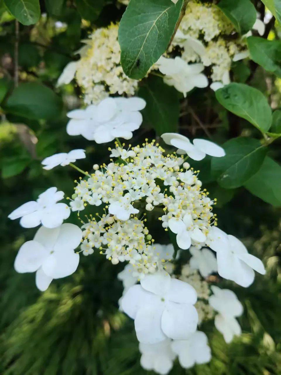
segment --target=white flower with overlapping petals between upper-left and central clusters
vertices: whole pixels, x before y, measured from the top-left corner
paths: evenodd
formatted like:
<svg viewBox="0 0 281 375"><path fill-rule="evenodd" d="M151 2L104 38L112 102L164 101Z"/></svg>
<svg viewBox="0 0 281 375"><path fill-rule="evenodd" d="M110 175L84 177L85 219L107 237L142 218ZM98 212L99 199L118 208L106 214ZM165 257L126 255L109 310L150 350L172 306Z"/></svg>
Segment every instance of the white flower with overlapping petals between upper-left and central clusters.
<svg viewBox="0 0 281 375"><path fill-rule="evenodd" d="M140 111L146 103L141 98L106 98L84 110L67 113L69 135L82 135L97 143L111 142L114 138L130 139L142 123Z"/></svg>

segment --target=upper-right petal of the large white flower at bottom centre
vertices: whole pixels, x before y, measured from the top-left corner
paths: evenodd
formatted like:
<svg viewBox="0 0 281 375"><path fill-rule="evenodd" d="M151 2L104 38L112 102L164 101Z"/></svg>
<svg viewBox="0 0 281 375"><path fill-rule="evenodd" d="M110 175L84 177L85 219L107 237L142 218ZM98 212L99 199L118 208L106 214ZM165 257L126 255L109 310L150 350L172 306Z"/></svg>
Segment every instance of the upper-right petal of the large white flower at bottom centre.
<svg viewBox="0 0 281 375"><path fill-rule="evenodd" d="M187 282L171 279L167 298L172 302L191 303L191 305L194 305L197 301L197 294L196 290Z"/></svg>

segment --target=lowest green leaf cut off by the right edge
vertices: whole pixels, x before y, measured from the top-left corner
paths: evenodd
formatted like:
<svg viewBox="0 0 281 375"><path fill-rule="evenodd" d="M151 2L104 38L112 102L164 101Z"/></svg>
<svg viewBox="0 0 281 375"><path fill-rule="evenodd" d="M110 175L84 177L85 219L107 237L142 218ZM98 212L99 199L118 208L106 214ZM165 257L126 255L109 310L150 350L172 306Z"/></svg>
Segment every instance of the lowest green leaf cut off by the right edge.
<svg viewBox="0 0 281 375"><path fill-rule="evenodd" d="M281 206L281 166L266 156L259 171L245 185L252 194L274 206Z"/></svg>

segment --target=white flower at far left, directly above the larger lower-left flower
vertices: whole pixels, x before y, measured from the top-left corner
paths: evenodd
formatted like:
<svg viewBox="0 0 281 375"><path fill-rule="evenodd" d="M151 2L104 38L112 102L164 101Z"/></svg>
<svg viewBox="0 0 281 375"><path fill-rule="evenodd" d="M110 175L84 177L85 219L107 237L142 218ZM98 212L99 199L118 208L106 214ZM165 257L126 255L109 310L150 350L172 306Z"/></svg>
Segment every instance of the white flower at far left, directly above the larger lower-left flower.
<svg viewBox="0 0 281 375"><path fill-rule="evenodd" d="M19 223L24 228L34 228L42 223L46 228L55 228L63 223L70 215L70 209L65 203L57 203L63 199L64 193L50 187L40 194L37 201L22 204L9 214L9 219L21 217Z"/></svg>

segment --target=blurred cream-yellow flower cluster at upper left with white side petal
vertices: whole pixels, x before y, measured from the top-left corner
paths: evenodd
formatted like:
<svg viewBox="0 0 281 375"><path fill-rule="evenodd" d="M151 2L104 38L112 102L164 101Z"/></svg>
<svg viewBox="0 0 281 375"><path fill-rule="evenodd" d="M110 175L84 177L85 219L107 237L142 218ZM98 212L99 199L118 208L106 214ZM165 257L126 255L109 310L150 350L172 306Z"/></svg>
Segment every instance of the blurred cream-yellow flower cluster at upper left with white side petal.
<svg viewBox="0 0 281 375"><path fill-rule="evenodd" d="M77 53L81 58L66 66L58 85L69 83L75 76L81 87L85 104L96 104L112 94L134 95L138 81L128 78L120 64L118 24L98 28L82 40Z"/></svg>

